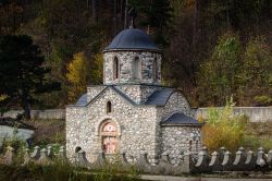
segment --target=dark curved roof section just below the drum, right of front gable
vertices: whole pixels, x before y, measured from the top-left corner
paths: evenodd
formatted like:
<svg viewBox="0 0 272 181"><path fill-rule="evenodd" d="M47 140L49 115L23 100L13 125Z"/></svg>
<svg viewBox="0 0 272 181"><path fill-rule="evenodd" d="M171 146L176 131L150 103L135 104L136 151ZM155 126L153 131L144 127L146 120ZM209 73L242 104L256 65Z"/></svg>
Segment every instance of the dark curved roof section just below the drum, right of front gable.
<svg viewBox="0 0 272 181"><path fill-rule="evenodd" d="M173 92L174 88L162 88L160 90L156 90L148 97L145 105L165 106Z"/></svg>

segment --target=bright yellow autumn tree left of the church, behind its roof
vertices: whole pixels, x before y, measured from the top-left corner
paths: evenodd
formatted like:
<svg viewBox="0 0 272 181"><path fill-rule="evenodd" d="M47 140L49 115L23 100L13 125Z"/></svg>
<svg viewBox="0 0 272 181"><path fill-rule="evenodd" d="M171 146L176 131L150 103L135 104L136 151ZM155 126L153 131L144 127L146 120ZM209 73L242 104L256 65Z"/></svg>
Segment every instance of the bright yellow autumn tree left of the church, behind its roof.
<svg viewBox="0 0 272 181"><path fill-rule="evenodd" d="M74 101L79 95L86 92L88 79L88 62L83 52L74 55L67 67L66 77L71 83L69 87L69 99Z"/></svg>

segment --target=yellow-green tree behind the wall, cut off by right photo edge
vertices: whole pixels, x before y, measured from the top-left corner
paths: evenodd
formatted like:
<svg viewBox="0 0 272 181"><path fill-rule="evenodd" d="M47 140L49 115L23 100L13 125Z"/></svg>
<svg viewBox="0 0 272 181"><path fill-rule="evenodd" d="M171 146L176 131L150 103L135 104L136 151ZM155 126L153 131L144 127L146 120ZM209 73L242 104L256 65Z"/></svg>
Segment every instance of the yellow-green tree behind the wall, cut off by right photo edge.
<svg viewBox="0 0 272 181"><path fill-rule="evenodd" d="M238 73L239 105L269 106L272 104L272 55L267 39L251 38L242 57Z"/></svg>

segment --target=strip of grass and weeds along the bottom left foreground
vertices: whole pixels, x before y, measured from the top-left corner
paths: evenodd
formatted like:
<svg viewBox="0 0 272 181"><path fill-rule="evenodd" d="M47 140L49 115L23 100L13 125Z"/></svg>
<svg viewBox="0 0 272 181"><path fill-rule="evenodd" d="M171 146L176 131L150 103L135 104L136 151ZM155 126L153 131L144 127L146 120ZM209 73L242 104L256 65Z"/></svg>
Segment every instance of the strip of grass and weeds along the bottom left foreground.
<svg viewBox="0 0 272 181"><path fill-rule="evenodd" d="M103 168L87 170L69 162L54 161L53 165L4 166L0 165L0 180L3 181L138 181L137 174Z"/></svg>

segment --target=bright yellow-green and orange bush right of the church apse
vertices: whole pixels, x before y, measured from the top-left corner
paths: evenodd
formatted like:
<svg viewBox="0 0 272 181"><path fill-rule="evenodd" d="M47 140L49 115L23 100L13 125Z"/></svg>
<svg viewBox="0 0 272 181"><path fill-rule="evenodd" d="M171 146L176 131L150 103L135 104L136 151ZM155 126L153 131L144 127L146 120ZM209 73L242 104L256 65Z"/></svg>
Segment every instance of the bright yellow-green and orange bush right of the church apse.
<svg viewBox="0 0 272 181"><path fill-rule="evenodd" d="M228 150L235 150L244 141L245 116L235 116L233 112L235 104L232 98L222 109L210 109L203 125L203 144L215 150L222 146Z"/></svg>

